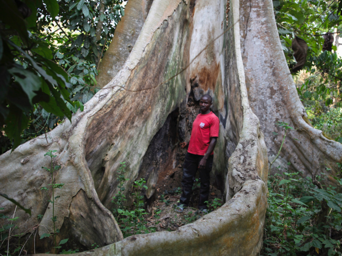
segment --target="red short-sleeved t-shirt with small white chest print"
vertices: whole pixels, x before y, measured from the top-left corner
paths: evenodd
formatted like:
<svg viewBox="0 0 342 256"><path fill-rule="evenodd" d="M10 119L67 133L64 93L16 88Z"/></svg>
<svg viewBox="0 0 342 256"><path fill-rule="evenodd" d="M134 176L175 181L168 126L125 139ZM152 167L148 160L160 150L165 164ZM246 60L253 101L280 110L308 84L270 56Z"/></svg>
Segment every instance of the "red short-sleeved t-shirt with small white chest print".
<svg viewBox="0 0 342 256"><path fill-rule="evenodd" d="M218 137L219 128L220 121L213 112L206 115L197 115L192 124L188 152L194 155L204 156L207 153L210 138Z"/></svg>

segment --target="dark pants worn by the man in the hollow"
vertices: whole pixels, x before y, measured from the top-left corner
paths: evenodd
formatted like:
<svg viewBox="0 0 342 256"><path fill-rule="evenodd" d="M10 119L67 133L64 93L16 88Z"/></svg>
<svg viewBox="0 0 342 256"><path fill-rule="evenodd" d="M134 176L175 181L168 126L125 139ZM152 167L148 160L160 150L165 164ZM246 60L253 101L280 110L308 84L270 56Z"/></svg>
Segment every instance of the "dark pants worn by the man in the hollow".
<svg viewBox="0 0 342 256"><path fill-rule="evenodd" d="M207 205L204 203L208 201L209 191L210 191L210 171L213 167L213 155L211 155L207 159L206 167L204 169L198 169L199 162L203 156L193 155L191 153L187 153L185 156L185 161L183 164L183 193L180 197L180 202L178 205L183 204L184 206L188 206L190 202L190 197L192 194L192 185L193 178L196 175L197 170L199 170L199 178L201 179L201 188L199 194L198 201L198 209L203 210L207 209Z"/></svg>

